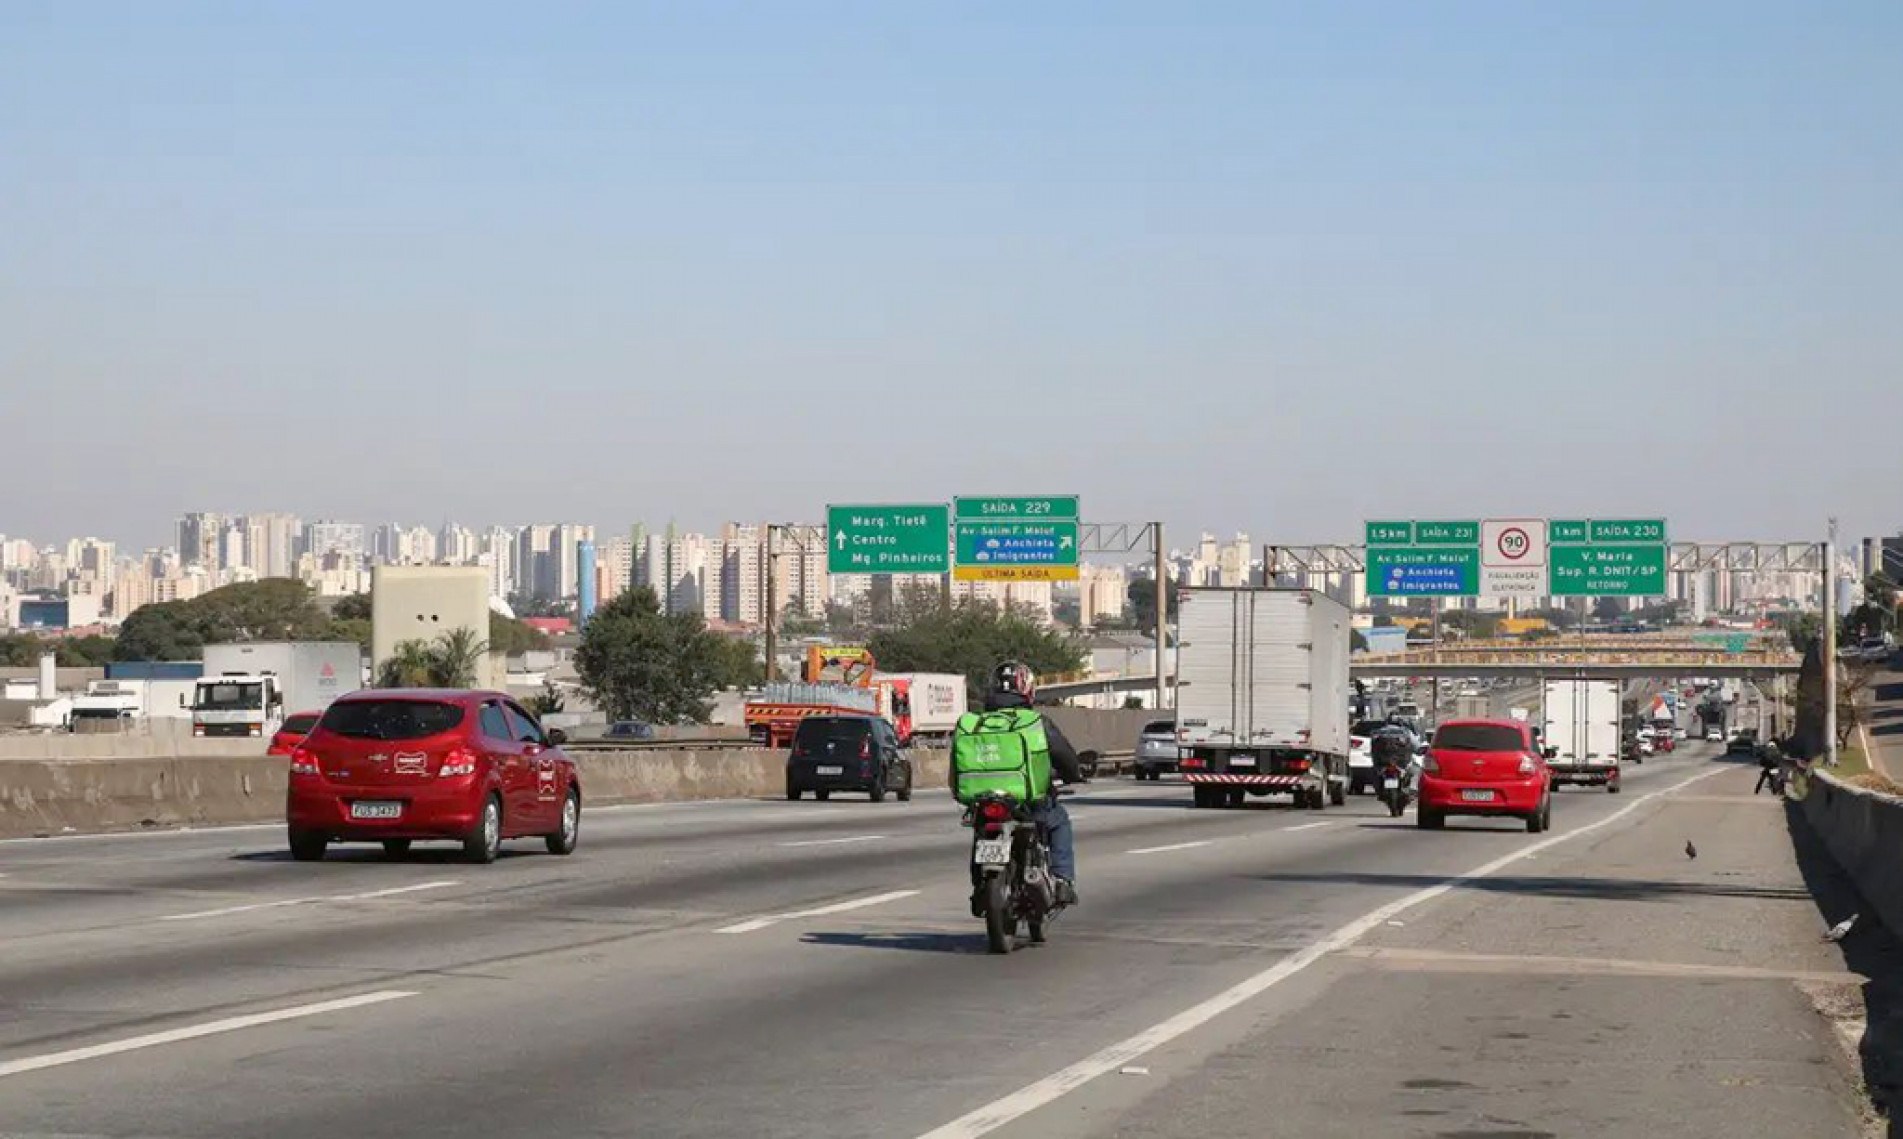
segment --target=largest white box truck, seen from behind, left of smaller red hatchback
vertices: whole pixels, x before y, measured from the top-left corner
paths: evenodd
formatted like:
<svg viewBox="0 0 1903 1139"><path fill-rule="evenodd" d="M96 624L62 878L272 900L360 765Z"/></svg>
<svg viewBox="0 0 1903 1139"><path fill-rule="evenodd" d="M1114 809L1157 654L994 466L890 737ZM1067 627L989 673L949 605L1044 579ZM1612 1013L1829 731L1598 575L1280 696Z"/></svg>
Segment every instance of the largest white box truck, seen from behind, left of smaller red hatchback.
<svg viewBox="0 0 1903 1139"><path fill-rule="evenodd" d="M1197 806L1347 802L1347 627L1313 589L1178 593L1176 743Z"/></svg>

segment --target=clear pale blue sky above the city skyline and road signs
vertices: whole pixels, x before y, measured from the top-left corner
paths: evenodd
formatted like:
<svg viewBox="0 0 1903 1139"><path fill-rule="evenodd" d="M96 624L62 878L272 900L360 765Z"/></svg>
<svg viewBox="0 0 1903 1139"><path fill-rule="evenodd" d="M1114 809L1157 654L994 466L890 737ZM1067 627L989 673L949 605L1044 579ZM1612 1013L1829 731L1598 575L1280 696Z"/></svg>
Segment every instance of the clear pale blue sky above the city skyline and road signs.
<svg viewBox="0 0 1903 1139"><path fill-rule="evenodd" d="M11 4L0 531L1893 531L1899 59L1893 2Z"/></svg>

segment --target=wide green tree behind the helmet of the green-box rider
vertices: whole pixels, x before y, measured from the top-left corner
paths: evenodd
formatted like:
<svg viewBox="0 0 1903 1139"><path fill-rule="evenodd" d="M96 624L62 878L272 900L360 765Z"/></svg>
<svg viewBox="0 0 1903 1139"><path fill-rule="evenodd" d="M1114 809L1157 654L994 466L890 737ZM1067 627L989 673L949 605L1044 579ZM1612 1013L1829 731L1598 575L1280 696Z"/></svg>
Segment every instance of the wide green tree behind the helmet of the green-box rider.
<svg viewBox="0 0 1903 1139"><path fill-rule="evenodd" d="M1071 637L988 601L921 612L873 633L868 648L883 671L963 673L974 696L1005 660L1022 660L1037 675L1075 671L1085 662L1083 647Z"/></svg>

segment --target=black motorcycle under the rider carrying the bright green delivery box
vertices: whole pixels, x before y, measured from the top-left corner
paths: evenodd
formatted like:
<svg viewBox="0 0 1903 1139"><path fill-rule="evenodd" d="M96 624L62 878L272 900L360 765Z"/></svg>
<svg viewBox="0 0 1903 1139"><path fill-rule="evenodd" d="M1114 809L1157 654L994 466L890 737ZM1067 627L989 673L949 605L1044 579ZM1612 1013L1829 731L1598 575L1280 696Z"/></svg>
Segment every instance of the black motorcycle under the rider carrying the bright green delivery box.
<svg viewBox="0 0 1903 1139"><path fill-rule="evenodd" d="M1005 795L980 795L965 812L971 827L972 915L984 918L991 953L1010 953L1022 924L1031 945L1064 905L1050 873L1050 846L1031 808Z"/></svg>

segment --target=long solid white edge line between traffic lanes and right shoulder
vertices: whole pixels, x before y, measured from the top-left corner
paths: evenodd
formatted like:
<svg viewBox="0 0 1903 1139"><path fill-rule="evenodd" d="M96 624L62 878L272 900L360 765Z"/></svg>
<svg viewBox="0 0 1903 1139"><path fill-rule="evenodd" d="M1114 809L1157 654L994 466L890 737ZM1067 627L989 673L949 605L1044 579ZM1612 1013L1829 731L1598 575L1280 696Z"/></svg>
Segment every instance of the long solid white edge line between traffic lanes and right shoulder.
<svg viewBox="0 0 1903 1139"><path fill-rule="evenodd" d="M934 1128L925 1135L921 1135L919 1139L978 1139L980 1135L990 1135L991 1131L1003 1128L1005 1124L1024 1118L1030 1112L1075 1091L1077 1088L1083 1088L1090 1080L1106 1072L1115 1072L1117 1069L1144 1057L1149 1052L1155 1052L1157 1048L1163 1048L1165 1044L1176 1040L1178 1036L1201 1029L1208 1021L1237 1008L1239 1004L1254 1000L1262 993L1300 974L1302 970L1309 968L1311 964L1328 956L1330 953L1347 949L1355 941L1361 941L1368 932L1382 928L1389 918L1406 913L1416 905L1433 901L1435 898L1441 898L1442 894L1450 892L1454 886L1460 886L1462 882L1486 878L1541 850L1547 850L1560 842L1570 842L1579 835L1591 835L1593 831L1610 827L1612 823L1623 820L1625 816L1633 814L1635 810L1652 802L1654 799L1659 799L1661 795L1671 795L1673 791L1688 787L1699 780L1724 774L1726 770L1730 768L1697 772L1688 780L1673 783L1671 787L1665 787L1661 791L1652 791L1650 795L1640 795L1633 802L1627 802L1619 810L1608 814L1606 818L1595 823L1585 823L1583 827L1566 831L1564 835L1541 839L1532 846L1496 858L1494 861L1479 865L1463 875L1454 875L1444 882L1439 882L1435 886L1425 886L1422 890L1416 890L1414 894L1408 894L1406 898L1389 901L1387 905L1382 905L1380 909L1374 909L1351 920L1349 924L1307 945L1305 949L1300 949L1290 956L1285 956L1283 960L1262 970L1254 977L1248 977L1239 985L1224 989L1216 996L1210 996L1208 1000L1195 1004L1159 1025L1151 1025L1149 1029L1144 1029L1142 1033L1130 1036L1128 1040L1111 1044L1109 1048L1098 1052L1096 1055L1087 1055L1085 1059L1069 1065L1068 1069L1052 1072L1043 1080L1037 1080L1035 1084L1020 1088L995 1103L988 1103L978 1110L972 1110L965 1116L952 1120L942 1128Z"/></svg>

